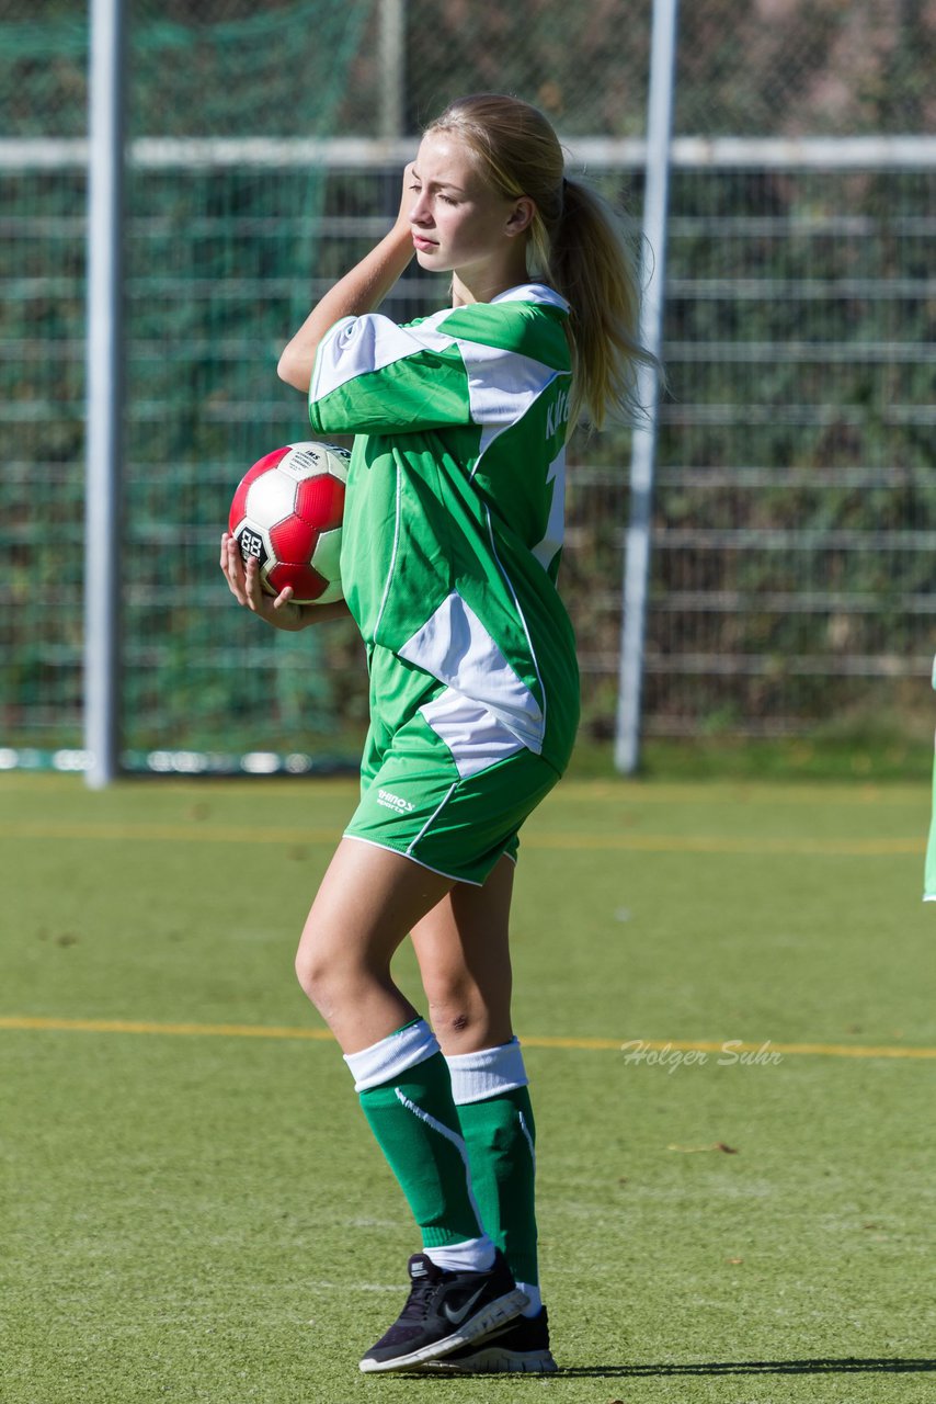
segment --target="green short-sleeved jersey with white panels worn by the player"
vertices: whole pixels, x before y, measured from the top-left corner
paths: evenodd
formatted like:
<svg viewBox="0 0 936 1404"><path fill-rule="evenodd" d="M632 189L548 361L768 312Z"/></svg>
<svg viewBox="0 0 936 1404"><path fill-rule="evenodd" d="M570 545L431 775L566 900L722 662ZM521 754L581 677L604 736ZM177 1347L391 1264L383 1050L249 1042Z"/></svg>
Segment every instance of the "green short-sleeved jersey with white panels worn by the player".
<svg viewBox="0 0 936 1404"><path fill-rule="evenodd" d="M567 316L526 285L408 326L347 317L312 376L313 430L358 435L341 578L372 705L389 729L418 708L463 775L521 747L561 771L574 740Z"/></svg>

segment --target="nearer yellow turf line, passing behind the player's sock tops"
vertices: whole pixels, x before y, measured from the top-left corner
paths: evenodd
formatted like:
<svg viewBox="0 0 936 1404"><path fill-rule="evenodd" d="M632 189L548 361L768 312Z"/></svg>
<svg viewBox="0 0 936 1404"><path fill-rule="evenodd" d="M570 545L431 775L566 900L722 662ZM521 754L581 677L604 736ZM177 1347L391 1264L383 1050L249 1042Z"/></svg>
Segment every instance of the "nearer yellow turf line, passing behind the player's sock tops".
<svg viewBox="0 0 936 1404"><path fill-rule="evenodd" d="M313 1039L316 1042L331 1040L328 1029L289 1028L267 1024L149 1024L138 1019L56 1019L41 1015L0 1015L0 1029L11 1031L59 1031L66 1033L161 1033L171 1038L227 1038L227 1039ZM561 1038L539 1035L528 1038L521 1035L521 1043L529 1049L578 1049L584 1052L631 1052L634 1047L641 1052L657 1053L779 1053L790 1056L822 1056L822 1057L901 1057L901 1059L936 1059L936 1049L897 1047L892 1043L869 1046L859 1043L775 1043L763 1039L761 1043L749 1043L741 1039L587 1039Z"/></svg>

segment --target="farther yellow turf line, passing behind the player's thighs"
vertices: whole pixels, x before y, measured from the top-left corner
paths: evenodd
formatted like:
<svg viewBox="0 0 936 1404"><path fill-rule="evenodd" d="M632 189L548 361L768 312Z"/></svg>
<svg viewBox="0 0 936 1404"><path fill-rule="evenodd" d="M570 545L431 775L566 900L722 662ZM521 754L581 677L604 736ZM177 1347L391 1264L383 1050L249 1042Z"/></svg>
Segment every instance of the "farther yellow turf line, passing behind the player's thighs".
<svg viewBox="0 0 936 1404"><path fill-rule="evenodd" d="M86 824L55 823L51 820L18 820L0 823L0 838L31 840L108 840L122 842L187 842L187 844L335 844L341 830L335 828L255 828L250 824L118 824L90 821ZM808 858L890 858L901 854L922 854L923 838L745 838L706 837L699 834L547 834L528 831L526 848L594 849L634 854L776 854Z"/></svg>

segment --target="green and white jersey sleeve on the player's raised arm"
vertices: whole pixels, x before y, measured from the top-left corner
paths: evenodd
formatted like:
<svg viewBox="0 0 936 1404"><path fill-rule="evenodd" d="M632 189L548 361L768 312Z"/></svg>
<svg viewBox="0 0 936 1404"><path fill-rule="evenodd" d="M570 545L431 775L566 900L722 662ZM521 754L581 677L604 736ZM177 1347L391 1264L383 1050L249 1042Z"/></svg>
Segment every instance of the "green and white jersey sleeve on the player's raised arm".
<svg viewBox="0 0 936 1404"><path fill-rule="evenodd" d="M345 317L319 345L309 420L321 434L401 434L472 423L453 337L370 313Z"/></svg>

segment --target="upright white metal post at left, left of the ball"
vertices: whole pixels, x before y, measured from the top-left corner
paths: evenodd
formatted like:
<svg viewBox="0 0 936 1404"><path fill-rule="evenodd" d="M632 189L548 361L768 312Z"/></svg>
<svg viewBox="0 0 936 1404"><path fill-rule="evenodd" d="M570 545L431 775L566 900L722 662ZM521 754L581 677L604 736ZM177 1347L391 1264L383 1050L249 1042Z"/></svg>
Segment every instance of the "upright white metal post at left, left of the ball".
<svg viewBox="0 0 936 1404"><path fill-rule="evenodd" d="M125 52L123 0L91 0L84 747L93 789L119 769Z"/></svg>

